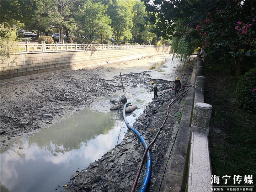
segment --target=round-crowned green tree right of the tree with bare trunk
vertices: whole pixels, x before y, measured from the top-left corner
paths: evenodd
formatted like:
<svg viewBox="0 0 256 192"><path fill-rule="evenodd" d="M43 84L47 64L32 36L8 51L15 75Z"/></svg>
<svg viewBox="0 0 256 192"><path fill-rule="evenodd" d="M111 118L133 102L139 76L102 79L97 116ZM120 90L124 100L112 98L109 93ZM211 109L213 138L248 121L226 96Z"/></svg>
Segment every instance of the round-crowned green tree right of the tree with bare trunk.
<svg viewBox="0 0 256 192"><path fill-rule="evenodd" d="M89 38L91 43L98 38L101 38L101 43L104 36L111 34L111 19L106 14L108 6L102 5L101 2L85 1L76 13L76 21L86 38Z"/></svg>

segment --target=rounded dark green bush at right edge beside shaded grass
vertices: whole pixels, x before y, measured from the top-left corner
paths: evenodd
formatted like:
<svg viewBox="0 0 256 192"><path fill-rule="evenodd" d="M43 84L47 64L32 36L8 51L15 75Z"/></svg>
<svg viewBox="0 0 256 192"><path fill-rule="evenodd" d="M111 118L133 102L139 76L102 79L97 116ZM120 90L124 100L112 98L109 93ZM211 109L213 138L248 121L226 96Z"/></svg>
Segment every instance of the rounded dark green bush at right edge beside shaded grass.
<svg viewBox="0 0 256 192"><path fill-rule="evenodd" d="M256 110L256 68L251 69L238 80L236 96L240 107Z"/></svg>

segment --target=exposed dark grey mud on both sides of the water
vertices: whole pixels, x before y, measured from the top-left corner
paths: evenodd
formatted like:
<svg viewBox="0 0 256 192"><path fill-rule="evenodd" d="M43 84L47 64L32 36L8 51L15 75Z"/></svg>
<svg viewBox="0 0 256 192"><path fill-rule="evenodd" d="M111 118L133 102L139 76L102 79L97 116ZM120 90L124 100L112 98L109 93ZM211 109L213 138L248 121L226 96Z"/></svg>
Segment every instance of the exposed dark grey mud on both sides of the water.
<svg viewBox="0 0 256 192"><path fill-rule="evenodd" d="M140 87L150 90L150 81L153 80L160 90L158 92L160 95L161 92L172 87L173 81L170 78L182 76L182 85L186 85L192 71L192 68L180 68L172 74L172 77L165 80L155 78L157 75L154 75L154 78L151 76L150 70L164 72L162 68L153 67L147 71L123 74L125 91L132 92L133 89ZM113 68L110 70L116 71ZM119 91L122 84L119 75L110 78L113 74L110 70L104 67L84 68L1 84L1 148L9 146L10 141L20 135L36 132L64 116L92 106L99 97L108 97L109 102L117 100L118 98L110 98L110 96ZM123 70L123 73L125 71L129 69ZM161 126L167 106L173 98L174 92L170 91L153 100L134 122L133 127L143 134L147 143L151 142ZM158 191L164 164L169 158L167 151L174 142L176 134L175 114L178 110L179 104L175 102L170 108L163 130L150 149L152 173L149 191ZM127 128L123 127L123 129ZM108 151L101 159L77 172L67 183L64 191L130 191L144 150L137 136L129 130L126 132L120 144ZM137 190L143 182L144 175L145 170L142 170Z"/></svg>

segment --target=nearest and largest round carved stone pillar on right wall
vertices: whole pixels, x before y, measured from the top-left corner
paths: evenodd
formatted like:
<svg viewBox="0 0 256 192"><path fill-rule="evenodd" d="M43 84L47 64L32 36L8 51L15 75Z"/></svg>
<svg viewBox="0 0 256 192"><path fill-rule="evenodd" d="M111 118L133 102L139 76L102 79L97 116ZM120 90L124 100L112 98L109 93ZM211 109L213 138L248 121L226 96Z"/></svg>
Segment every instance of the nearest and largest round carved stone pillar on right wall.
<svg viewBox="0 0 256 192"><path fill-rule="evenodd" d="M197 129L196 132L209 134L210 117L212 115L212 106L207 103L196 103L191 126Z"/></svg>

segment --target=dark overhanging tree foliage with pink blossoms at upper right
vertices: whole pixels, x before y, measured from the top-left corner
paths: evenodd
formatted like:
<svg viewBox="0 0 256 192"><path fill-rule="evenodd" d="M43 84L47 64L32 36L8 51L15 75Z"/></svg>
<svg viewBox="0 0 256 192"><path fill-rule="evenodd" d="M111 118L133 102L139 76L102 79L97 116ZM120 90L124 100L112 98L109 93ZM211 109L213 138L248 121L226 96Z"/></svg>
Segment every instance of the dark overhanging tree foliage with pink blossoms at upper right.
<svg viewBox="0 0 256 192"><path fill-rule="evenodd" d="M200 46L212 63L233 58L236 74L253 67L256 1L145 1L145 5L155 33L172 38L174 52L183 58ZM242 24L250 31L235 29Z"/></svg>

